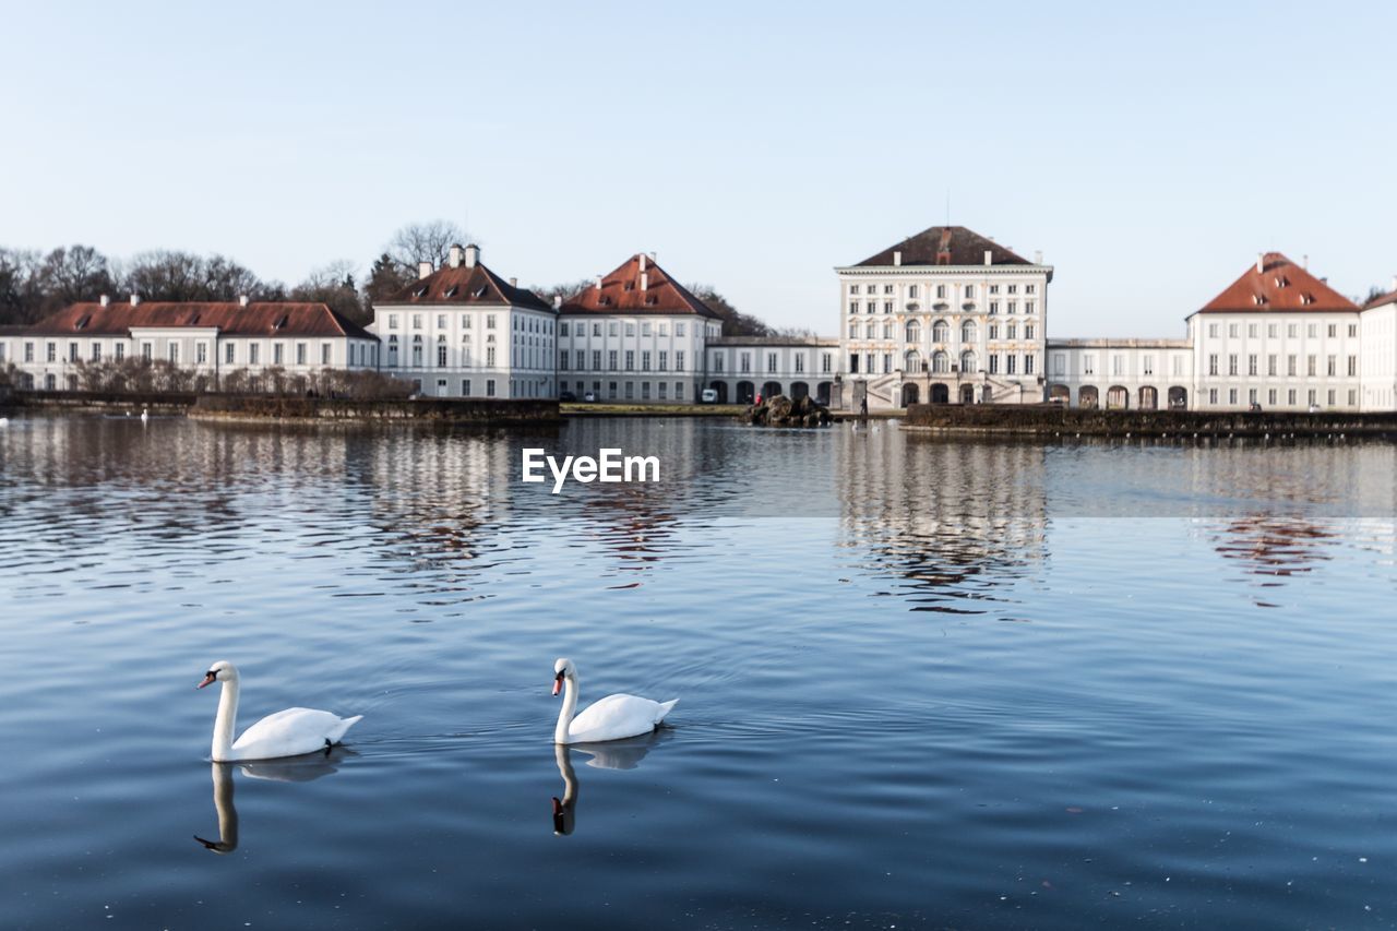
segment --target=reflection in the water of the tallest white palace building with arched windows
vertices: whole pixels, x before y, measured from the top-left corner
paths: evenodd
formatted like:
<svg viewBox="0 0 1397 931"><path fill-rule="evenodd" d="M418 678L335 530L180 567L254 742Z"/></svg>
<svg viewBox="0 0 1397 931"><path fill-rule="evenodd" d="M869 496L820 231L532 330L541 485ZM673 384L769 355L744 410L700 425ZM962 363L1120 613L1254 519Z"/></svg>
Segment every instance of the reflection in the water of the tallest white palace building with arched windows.
<svg viewBox="0 0 1397 931"><path fill-rule="evenodd" d="M884 429L838 456L844 545L914 611L985 614L1046 556L1042 446Z"/></svg>

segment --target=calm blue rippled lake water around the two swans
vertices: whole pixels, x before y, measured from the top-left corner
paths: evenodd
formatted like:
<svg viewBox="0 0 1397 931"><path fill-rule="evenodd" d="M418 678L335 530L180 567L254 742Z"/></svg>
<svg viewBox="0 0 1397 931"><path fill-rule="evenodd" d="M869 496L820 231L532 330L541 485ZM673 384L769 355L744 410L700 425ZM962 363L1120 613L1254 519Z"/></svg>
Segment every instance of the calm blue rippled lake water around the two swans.
<svg viewBox="0 0 1397 931"><path fill-rule="evenodd" d="M664 481L555 496L524 446ZM1390 927L1394 475L1387 445L11 419L0 924ZM557 752L559 656L672 727ZM365 719L211 765L218 658L240 728Z"/></svg>

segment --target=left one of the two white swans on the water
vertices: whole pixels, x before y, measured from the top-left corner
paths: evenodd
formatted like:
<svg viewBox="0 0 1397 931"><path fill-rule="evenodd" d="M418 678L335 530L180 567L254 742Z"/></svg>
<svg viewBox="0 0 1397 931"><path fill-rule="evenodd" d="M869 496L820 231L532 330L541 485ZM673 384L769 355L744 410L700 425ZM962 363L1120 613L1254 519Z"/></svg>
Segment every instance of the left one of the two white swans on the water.
<svg viewBox="0 0 1397 931"><path fill-rule="evenodd" d="M363 717L363 714L339 717L309 707L288 707L257 721L243 731L237 742L233 742L233 727L237 723L237 667L228 660L219 660L208 667L208 674L198 688L214 682L224 685L224 693L218 698L218 717L214 720L215 763L314 753L338 744L344 739L345 731Z"/></svg>

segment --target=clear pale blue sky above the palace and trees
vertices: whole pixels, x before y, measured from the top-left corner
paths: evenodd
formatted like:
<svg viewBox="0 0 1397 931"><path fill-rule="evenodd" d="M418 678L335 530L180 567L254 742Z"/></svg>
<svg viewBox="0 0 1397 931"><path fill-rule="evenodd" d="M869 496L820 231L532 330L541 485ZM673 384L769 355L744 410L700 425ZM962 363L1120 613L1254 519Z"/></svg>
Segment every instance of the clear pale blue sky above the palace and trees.
<svg viewBox="0 0 1397 931"><path fill-rule="evenodd" d="M1058 338L1182 337L1266 250L1397 275L1391 3L3 6L0 246L295 284L443 218L821 334L947 215L1042 250Z"/></svg>

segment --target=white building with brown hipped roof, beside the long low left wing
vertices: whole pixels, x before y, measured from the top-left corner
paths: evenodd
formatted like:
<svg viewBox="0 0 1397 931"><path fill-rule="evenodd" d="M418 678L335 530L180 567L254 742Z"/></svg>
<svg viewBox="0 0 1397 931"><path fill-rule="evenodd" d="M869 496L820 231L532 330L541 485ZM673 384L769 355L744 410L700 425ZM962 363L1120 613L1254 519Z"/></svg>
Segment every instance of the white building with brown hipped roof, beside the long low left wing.
<svg viewBox="0 0 1397 931"><path fill-rule="evenodd" d="M556 310L453 246L441 268L374 308L383 370L430 397L556 397Z"/></svg>

